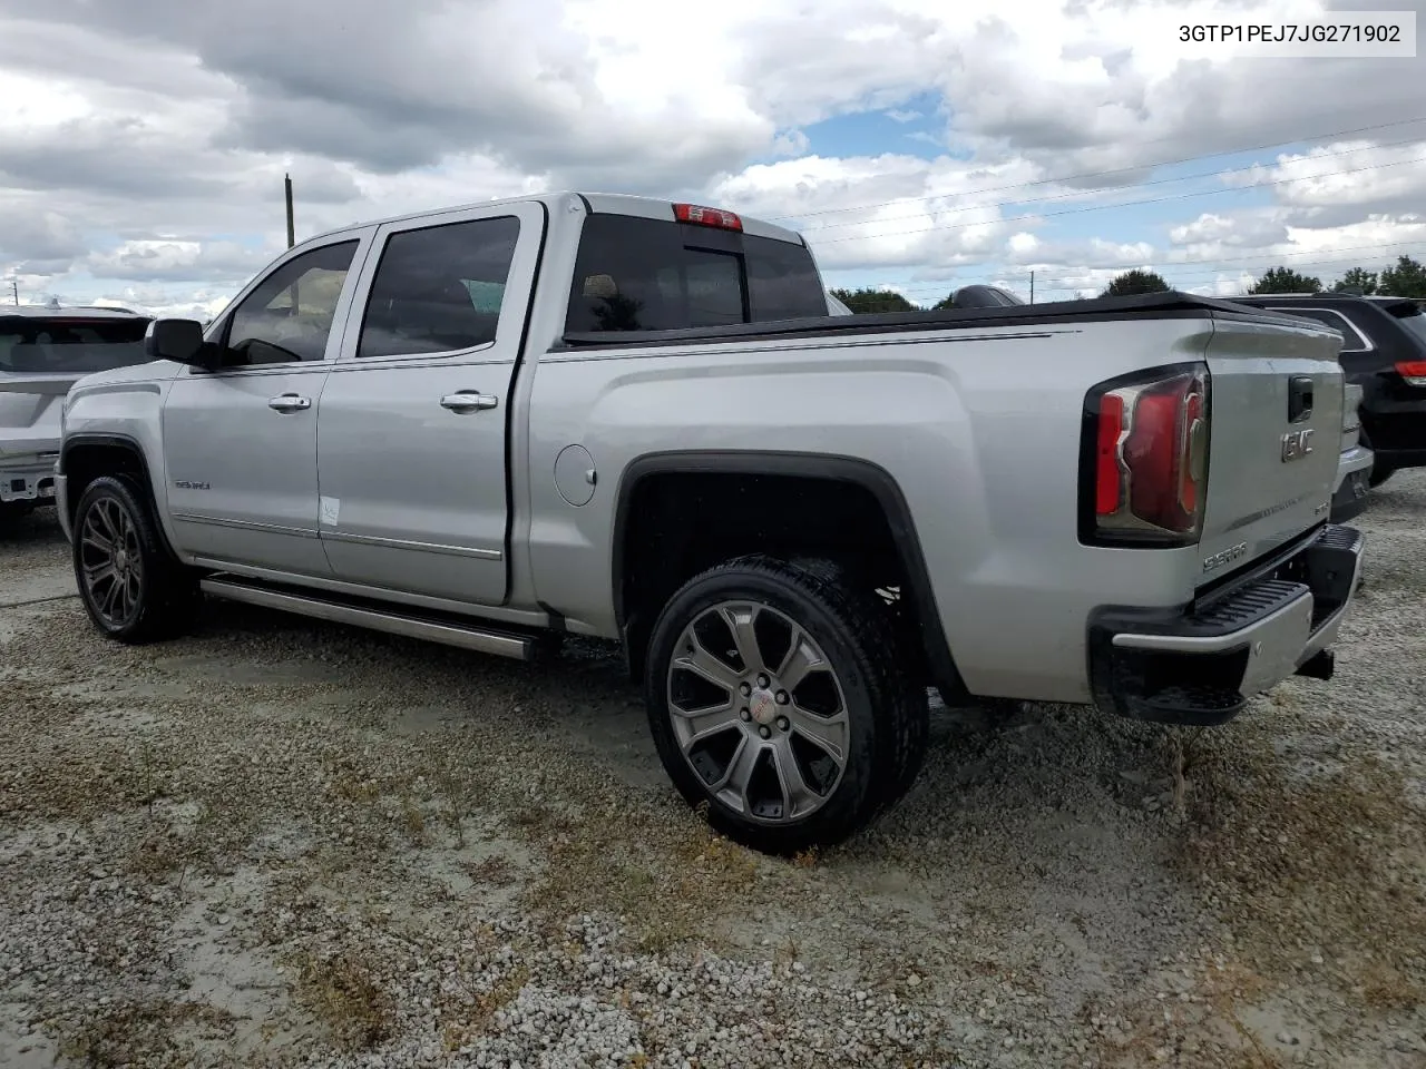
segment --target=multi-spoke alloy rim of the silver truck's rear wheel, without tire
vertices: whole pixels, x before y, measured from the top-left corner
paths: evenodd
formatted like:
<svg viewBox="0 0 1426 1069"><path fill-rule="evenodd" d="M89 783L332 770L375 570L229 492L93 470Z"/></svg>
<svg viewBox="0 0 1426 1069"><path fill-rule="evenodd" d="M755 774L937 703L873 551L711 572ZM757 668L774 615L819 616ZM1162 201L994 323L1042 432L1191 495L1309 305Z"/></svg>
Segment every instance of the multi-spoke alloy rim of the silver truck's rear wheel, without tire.
<svg viewBox="0 0 1426 1069"><path fill-rule="evenodd" d="M821 647L771 606L722 601L694 617L669 663L667 700L689 767L747 820L801 820L841 783L841 683Z"/></svg>

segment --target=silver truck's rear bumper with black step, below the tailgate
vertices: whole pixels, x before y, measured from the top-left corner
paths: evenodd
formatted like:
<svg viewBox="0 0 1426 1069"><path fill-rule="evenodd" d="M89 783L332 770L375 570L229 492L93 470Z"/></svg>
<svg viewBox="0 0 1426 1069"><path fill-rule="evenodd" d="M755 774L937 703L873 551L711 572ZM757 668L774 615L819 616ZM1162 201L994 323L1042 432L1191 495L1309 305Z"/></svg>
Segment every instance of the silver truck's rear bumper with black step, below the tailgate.
<svg viewBox="0 0 1426 1069"><path fill-rule="evenodd" d="M1363 547L1360 532L1329 525L1201 603L1099 610L1089 623L1095 701L1135 720L1222 724L1289 676L1330 677Z"/></svg>

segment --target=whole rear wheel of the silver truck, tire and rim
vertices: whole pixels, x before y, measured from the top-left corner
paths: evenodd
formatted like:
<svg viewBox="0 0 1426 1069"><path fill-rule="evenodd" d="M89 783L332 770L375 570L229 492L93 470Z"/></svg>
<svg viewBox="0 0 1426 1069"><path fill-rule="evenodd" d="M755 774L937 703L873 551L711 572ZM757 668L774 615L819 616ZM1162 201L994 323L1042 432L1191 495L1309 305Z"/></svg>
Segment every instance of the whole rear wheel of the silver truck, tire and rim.
<svg viewBox="0 0 1426 1069"><path fill-rule="evenodd" d="M665 606L646 703L674 785L754 849L830 845L910 788L925 688L884 606L830 562L719 564Z"/></svg>

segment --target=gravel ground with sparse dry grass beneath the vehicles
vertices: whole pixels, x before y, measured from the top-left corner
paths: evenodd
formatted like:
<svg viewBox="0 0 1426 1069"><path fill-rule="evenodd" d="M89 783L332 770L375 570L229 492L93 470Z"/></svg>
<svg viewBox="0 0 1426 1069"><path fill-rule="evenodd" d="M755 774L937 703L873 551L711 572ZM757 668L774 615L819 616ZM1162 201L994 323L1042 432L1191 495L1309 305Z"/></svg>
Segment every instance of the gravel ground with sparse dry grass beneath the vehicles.
<svg viewBox="0 0 1426 1069"><path fill-rule="evenodd" d="M123 649L36 513L0 1065L1426 1066L1426 476L1359 525L1332 683L1206 733L938 710L898 810L781 862L676 800L605 647L217 604Z"/></svg>

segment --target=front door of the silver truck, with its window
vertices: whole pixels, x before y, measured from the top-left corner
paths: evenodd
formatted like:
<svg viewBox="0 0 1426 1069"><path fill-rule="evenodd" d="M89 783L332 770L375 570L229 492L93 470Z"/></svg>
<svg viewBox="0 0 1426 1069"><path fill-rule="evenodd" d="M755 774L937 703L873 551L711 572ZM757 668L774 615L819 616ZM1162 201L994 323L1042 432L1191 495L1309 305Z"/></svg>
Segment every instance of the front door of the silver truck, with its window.
<svg viewBox="0 0 1426 1069"><path fill-rule="evenodd" d="M362 244L282 259L210 329L221 365L174 381L163 442L178 552L331 574L317 536L317 416Z"/></svg>

